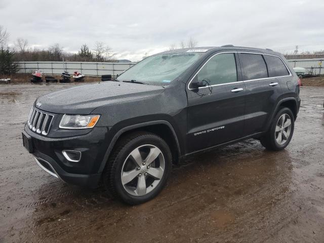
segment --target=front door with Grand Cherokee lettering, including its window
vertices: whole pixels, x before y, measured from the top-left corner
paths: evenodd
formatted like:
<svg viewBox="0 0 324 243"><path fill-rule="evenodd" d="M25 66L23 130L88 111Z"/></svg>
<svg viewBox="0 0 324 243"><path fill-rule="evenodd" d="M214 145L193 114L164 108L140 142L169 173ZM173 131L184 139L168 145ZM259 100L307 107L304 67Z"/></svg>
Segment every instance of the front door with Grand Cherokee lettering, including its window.
<svg viewBox="0 0 324 243"><path fill-rule="evenodd" d="M233 52L212 56L191 82L206 87L187 87L188 153L212 147L242 136L244 132L245 85L237 71L238 56ZM239 68L239 67L238 67Z"/></svg>

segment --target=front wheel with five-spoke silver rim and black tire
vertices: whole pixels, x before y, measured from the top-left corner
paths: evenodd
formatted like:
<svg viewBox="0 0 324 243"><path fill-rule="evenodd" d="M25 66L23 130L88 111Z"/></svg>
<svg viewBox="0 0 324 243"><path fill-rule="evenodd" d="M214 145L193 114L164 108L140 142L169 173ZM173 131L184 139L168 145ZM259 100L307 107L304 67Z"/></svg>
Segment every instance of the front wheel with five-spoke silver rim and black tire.
<svg viewBox="0 0 324 243"><path fill-rule="evenodd" d="M155 197L171 173L172 155L159 136L138 132L121 138L103 174L104 186L130 205Z"/></svg>

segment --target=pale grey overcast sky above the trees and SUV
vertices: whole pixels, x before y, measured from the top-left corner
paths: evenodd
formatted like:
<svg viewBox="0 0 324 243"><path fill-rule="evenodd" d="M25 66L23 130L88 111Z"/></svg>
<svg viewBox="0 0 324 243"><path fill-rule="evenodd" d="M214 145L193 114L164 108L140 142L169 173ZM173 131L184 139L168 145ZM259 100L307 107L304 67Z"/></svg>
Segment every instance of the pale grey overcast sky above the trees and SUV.
<svg viewBox="0 0 324 243"><path fill-rule="evenodd" d="M141 60L190 37L280 52L324 50L324 0L0 0L0 24L40 49L76 52L104 42L118 59Z"/></svg>

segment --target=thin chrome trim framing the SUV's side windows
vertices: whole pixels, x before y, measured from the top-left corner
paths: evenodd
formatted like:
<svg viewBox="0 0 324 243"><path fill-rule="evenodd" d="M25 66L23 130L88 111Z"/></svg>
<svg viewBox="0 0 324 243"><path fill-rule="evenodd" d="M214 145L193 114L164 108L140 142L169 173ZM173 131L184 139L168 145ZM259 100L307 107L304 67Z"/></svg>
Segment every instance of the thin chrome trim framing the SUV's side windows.
<svg viewBox="0 0 324 243"><path fill-rule="evenodd" d="M267 55L267 56L273 56L273 57L278 57L282 63L284 63L284 65L286 66L288 72L289 72L289 75L284 75L284 76L275 76L275 77L263 77L263 78L255 78L255 79L248 79L248 80L241 80L241 81L237 81L237 82L231 82L231 83L224 83L224 84L218 84L218 85L211 85L211 86L206 86L206 87L199 87L198 89L205 89L205 88L208 88L208 87L215 87L215 86L222 86L222 85L231 85L231 84L239 84L239 83L244 83L244 82L251 82L251 81L257 81L257 80L265 80L265 79L271 79L271 78L279 78L279 77L290 77L292 76L292 73L290 71L290 69L288 68L288 66L286 65L286 63L284 62L284 60L281 59L281 57L279 56L276 56L276 55L271 55L271 54L265 54L265 53L258 53L258 52L240 52L240 51L231 51L231 52L219 52L219 53L216 53L214 54L213 56L211 56L205 63L203 66L201 66L199 68L199 70L196 72L196 74L194 74L194 76L190 79L190 82L187 86L188 90L194 90L194 89L190 89L189 86L192 82L192 80L195 78L195 76L200 72L200 70L206 65L206 63L209 62L209 60L211 60L213 57L215 57L216 55L219 55L219 54L226 54L226 53L245 53L245 54L257 54L257 55Z"/></svg>

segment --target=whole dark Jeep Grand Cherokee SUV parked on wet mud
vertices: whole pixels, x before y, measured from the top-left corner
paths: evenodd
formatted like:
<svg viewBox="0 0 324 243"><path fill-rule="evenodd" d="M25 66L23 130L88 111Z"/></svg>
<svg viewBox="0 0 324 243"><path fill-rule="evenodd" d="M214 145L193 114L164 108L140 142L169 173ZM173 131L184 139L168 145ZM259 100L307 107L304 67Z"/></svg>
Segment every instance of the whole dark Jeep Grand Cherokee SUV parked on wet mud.
<svg viewBox="0 0 324 243"><path fill-rule="evenodd" d="M250 138L284 149L300 107L300 79L268 49L163 52L114 81L36 99L23 144L51 175L102 181L128 204L155 197L188 155Z"/></svg>

